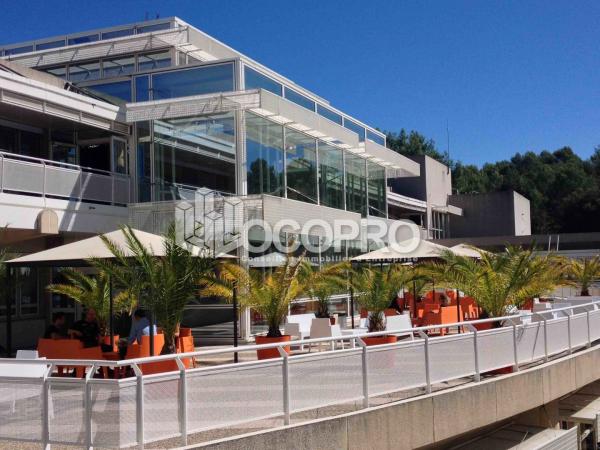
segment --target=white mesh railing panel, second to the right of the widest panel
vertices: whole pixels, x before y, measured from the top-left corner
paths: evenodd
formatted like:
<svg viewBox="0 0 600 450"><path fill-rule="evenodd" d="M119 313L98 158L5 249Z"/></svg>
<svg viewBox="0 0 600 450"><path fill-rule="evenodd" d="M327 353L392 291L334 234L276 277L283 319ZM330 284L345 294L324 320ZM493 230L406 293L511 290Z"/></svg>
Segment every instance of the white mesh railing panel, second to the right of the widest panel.
<svg viewBox="0 0 600 450"><path fill-rule="evenodd" d="M371 347L367 352L369 394L377 395L425 386L425 341L393 348Z"/></svg>

